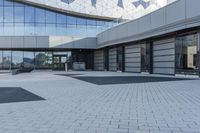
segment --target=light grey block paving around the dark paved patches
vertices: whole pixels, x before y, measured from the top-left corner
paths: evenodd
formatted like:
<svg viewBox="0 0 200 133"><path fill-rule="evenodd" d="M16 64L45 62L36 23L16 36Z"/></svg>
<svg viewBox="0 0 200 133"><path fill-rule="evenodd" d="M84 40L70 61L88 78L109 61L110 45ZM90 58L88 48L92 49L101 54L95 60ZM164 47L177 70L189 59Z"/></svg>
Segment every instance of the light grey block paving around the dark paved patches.
<svg viewBox="0 0 200 133"><path fill-rule="evenodd" d="M46 100L0 104L0 133L200 133L200 80L95 85L63 73L1 74L1 87Z"/></svg>

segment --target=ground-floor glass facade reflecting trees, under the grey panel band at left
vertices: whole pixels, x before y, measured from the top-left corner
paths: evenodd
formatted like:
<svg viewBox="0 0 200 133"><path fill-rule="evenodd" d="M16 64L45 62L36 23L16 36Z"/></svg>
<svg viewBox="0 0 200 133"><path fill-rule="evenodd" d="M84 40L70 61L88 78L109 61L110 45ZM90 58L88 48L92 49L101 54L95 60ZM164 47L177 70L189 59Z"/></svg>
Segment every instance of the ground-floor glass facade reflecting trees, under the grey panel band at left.
<svg viewBox="0 0 200 133"><path fill-rule="evenodd" d="M19 69L52 69L53 56L58 52L52 51L10 51L0 50L0 70ZM65 58L60 63L66 63L71 58L71 52L62 52Z"/></svg>

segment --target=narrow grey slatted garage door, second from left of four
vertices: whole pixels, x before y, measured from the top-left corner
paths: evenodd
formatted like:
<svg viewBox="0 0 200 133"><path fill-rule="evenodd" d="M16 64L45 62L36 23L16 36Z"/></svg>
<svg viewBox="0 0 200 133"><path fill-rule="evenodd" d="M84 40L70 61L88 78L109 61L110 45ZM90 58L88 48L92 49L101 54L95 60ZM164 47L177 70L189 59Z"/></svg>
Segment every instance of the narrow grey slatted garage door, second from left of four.
<svg viewBox="0 0 200 133"><path fill-rule="evenodd" d="M117 71L117 49L109 49L109 71Z"/></svg>

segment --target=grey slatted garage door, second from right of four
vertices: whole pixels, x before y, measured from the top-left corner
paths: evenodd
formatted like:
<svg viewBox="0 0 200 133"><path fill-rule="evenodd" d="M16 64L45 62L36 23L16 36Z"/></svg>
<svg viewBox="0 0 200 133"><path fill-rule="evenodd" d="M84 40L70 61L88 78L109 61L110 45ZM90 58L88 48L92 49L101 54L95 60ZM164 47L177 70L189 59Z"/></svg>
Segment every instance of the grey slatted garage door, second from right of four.
<svg viewBox="0 0 200 133"><path fill-rule="evenodd" d="M125 71L141 72L141 48L139 45L125 47Z"/></svg>

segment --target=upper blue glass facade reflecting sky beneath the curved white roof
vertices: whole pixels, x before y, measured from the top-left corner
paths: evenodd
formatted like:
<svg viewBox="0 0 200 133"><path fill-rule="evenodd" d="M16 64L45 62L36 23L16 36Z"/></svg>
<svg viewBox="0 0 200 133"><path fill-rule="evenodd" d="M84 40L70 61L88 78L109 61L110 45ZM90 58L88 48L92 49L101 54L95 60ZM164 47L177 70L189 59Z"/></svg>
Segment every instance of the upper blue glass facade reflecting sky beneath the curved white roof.
<svg viewBox="0 0 200 133"><path fill-rule="evenodd" d="M81 18L34 6L0 0L1 36L63 35L93 37L116 22Z"/></svg>

